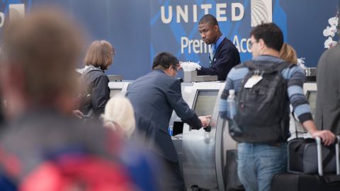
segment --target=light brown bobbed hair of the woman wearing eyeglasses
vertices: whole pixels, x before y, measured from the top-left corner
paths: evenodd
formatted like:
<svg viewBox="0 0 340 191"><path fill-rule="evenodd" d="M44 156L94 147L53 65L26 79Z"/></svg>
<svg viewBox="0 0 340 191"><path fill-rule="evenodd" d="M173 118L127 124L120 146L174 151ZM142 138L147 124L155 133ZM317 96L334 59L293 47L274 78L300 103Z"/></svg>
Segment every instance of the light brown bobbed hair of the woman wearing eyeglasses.
<svg viewBox="0 0 340 191"><path fill-rule="evenodd" d="M112 57L115 55L115 49L106 40L96 40L91 43L86 52L84 64L101 67L102 70L108 69L113 62Z"/></svg>

